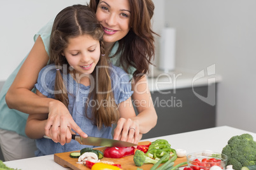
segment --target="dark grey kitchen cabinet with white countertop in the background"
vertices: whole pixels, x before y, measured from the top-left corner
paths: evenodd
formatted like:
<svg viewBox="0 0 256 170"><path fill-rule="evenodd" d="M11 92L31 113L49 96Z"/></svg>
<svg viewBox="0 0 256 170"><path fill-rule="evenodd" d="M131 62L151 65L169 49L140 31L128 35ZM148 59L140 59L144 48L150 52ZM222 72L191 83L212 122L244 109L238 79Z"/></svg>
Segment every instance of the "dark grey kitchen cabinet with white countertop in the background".
<svg viewBox="0 0 256 170"><path fill-rule="evenodd" d="M148 75L148 85L158 119L143 139L215 127L220 81L215 65L199 72L154 69Z"/></svg>

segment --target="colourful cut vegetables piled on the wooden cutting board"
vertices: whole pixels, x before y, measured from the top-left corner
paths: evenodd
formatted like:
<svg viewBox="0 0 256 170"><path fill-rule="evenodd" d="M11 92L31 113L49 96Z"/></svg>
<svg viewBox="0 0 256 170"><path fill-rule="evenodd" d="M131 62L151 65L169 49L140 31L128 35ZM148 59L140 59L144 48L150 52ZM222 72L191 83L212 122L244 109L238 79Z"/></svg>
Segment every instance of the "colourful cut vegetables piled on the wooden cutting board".
<svg viewBox="0 0 256 170"><path fill-rule="evenodd" d="M108 167L108 169L120 170L122 169L120 164L102 161L100 159L103 157L118 159L128 155L134 155L133 160L136 166L142 166L145 163L154 164L150 170L175 170L187 164L187 162L182 162L181 164L173 166L174 160L177 159L177 154L176 150L171 148L167 140L155 140L148 145L138 145L136 149L135 152L134 147L106 147L103 153L92 148L83 148L80 152L71 152L69 156L76 159L78 158L77 164L83 164L92 170L103 170L104 168L106 169L106 167ZM160 164L162 164L162 166L158 167Z"/></svg>

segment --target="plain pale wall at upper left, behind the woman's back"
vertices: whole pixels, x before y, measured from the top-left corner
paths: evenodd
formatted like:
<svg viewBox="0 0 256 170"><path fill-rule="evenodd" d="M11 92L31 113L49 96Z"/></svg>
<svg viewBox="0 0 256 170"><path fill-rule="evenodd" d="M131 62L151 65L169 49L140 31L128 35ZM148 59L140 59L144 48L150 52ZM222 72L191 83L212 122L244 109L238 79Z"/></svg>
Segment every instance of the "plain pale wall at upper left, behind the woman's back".
<svg viewBox="0 0 256 170"><path fill-rule="evenodd" d="M60 10L89 0L0 1L0 81L17 67L29 53L33 36Z"/></svg>

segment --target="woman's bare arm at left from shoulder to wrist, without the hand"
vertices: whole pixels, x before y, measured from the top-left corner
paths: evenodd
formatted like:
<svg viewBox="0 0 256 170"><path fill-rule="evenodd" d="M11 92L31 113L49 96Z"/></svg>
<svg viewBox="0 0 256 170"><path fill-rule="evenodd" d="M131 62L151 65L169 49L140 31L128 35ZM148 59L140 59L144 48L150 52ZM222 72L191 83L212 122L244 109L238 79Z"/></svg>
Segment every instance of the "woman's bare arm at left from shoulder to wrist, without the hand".
<svg viewBox="0 0 256 170"><path fill-rule="evenodd" d="M9 108L27 114L48 113L48 105L53 99L41 98L31 92L38 79L39 71L45 67L48 59L43 41L41 37L38 37L6 93L6 103Z"/></svg>

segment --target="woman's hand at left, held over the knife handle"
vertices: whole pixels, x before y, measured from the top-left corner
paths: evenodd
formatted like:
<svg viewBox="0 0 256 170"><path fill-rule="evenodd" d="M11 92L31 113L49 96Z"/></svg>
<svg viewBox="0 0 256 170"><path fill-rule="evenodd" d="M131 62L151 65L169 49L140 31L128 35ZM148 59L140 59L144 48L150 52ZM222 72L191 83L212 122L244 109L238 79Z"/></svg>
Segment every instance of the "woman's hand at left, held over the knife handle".
<svg viewBox="0 0 256 170"><path fill-rule="evenodd" d="M49 103L49 114L45 126L45 135L52 138L54 142L61 144L71 141L70 129L76 131L80 136L86 138L87 134L75 123L68 108L60 101L52 101Z"/></svg>

